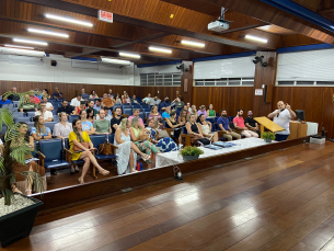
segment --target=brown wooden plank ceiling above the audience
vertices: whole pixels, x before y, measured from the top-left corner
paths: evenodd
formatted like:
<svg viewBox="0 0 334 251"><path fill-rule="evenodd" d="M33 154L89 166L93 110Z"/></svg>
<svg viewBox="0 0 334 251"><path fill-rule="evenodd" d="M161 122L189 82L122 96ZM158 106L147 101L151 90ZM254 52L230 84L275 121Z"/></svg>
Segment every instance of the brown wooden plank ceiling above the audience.
<svg viewBox="0 0 334 251"><path fill-rule="evenodd" d="M334 20L331 0L293 1ZM233 22L222 33L210 32L207 25L218 19L221 7L228 9L226 20ZM97 10L113 12L114 22L99 21ZM46 13L91 22L93 27L50 20ZM65 33L69 37L35 34L27 28ZM245 35L265 38L267 43L246 39ZM23 45L13 38L47 42L47 46L34 48L68 58L106 56L137 65L334 44L334 33L260 0L0 0L0 46ZM183 39L205 43L205 47L183 45ZM151 52L149 46L172 53ZM120 57L119 52L141 57Z"/></svg>

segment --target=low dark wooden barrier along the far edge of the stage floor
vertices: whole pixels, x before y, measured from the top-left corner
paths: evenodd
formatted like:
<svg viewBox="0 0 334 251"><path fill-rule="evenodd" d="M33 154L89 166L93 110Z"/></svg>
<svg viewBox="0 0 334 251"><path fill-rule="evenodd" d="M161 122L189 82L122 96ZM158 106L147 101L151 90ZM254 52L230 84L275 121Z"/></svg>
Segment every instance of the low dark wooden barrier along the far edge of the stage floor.
<svg viewBox="0 0 334 251"><path fill-rule="evenodd" d="M206 168L211 168L214 166L226 164L245 158L255 157L283 148L293 147L308 141L309 137L304 137L277 144L268 144L261 147L250 148L243 151L234 151L227 155L188 161L185 163L181 163L177 167L181 169L182 173L189 173L198 170L204 170ZM44 206L39 208L39 215L45 215L57 210L57 207L59 207L58 209L64 207L70 207L73 206L76 203L82 203L82 201L87 199L91 202L95 197L97 199L97 197L101 198L101 196L107 196L112 193L115 194L116 192L119 192L124 189L135 187L139 185L149 185L152 182L157 182L159 180L168 178L173 179L173 167L170 166L141 171L129 175L114 176L102 181L97 180L95 182L87 183L84 185L74 185L55 191L48 191L43 195L42 198L39 195L33 195L33 197L42 199L44 202Z"/></svg>

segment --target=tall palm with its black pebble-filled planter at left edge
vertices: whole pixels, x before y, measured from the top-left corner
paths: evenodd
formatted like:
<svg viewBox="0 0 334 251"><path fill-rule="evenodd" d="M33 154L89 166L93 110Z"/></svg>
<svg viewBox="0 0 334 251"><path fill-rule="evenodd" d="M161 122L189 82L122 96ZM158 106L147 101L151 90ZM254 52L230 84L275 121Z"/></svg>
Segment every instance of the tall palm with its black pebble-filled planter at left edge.
<svg viewBox="0 0 334 251"><path fill-rule="evenodd" d="M4 96L12 94L8 92ZM20 102L26 93L15 93L20 95ZM10 142L20 137L19 128L21 124L14 124L13 115L8 109L0 109L0 132L5 124L7 132L4 142ZM25 196L14 191L15 175L13 164L15 162L26 164L25 156L31 155L31 146L20 144L13 147L4 144L3 152L0 157L0 246L2 248L13 243L16 240L28 237L34 226L35 217L42 202ZM20 172L26 181L39 187L43 191L43 179L38 173L32 171Z"/></svg>

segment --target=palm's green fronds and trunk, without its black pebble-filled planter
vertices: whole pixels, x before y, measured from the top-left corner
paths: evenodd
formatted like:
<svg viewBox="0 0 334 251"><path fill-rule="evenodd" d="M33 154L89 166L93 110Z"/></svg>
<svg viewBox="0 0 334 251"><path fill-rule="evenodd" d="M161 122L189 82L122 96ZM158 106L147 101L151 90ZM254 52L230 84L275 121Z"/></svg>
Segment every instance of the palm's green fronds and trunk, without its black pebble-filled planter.
<svg viewBox="0 0 334 251"><path fill-rule="evenodd" d="M15 93L20 96L20 103L25 101L25 96L28 92ZM9 96L13 92L8 92L3 96ZM23 144L10 145L12 140L16 140L20 136L19 128L21 124L15 124L13 119L13 114L8 109L0 109L0 132L2 132L3 124L7 126L7 132L4 135L4 148L3 155L0 158L0 192L4 198L4 205L11 205L11 199L13 196L12 187L15 180L15 173L13 170L13 164L20 162L25 164L25 156L31 155L32 149L28 142L24 139ZM38 173L32 171L20 172L24 175L30 184L34 184L37 191L43 191L43 179Z"/></svg>

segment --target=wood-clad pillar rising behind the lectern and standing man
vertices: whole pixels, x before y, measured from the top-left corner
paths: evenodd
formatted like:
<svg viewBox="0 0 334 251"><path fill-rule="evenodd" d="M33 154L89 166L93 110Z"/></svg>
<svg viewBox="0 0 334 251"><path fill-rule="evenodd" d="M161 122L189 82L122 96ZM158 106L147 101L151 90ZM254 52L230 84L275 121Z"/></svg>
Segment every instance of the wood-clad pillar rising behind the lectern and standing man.
<svg viewBox="0 0 334 251"><path fill-rule="evenodd" d="M262 89L262 85L275 85L276 81L276 70L277 70L277 53L276 52L257 52L257 56L264 56L263 60L268 65L267 67L262 67L261 64L255 66L255 77L254 77L254 91L253 96L253 113L255 116L268 114L272 110L272 103L264 101L264 95L255 95L255 89ZM273 91L268 88L268 91ZM263 89L263 94L265 89ZM272 95L273 93L267 93Z"/></svg>

